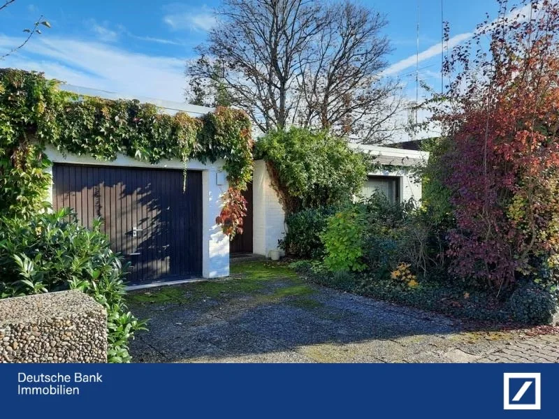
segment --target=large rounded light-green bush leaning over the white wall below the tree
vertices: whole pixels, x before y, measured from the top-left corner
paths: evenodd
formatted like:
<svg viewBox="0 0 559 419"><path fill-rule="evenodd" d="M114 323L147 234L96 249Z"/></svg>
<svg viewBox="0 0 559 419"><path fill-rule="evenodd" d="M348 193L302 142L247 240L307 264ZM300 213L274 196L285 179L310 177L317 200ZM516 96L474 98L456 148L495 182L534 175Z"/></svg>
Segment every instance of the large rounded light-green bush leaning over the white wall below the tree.
<svg viewBox="0 0 559 419"><path fill-rule="evenodd" d="M254 156L271 164L287 212L349 203L367 175L365 156L326 131L268 133L256 142Z"/></svg>

